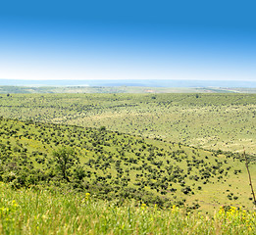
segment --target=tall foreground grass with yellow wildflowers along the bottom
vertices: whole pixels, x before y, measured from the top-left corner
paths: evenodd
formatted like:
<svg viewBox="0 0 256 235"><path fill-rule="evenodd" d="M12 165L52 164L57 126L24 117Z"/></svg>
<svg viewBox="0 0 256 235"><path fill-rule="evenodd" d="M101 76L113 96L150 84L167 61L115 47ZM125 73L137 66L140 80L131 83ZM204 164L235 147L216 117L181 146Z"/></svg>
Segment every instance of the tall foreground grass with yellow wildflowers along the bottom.
<svg viewBox="0 0 256 235"><path fill-rule="evenodd" d="M13 190L0 184L0 234L255 234L255 212L231 208L214 216L174 207L117 207L88 194Z"/></svg>

